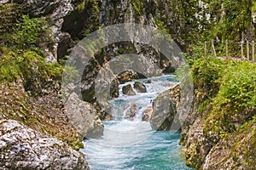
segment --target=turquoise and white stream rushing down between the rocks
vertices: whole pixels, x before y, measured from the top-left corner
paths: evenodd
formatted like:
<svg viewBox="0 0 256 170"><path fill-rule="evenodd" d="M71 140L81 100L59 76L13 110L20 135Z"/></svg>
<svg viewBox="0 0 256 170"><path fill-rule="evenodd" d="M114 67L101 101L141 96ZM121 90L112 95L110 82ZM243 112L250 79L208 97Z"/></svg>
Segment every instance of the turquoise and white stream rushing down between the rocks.
<svg viewBox="0 0 256 170"><path fill-rule="evenodd" d="M142 113L152 105L153 99L170 87L175 86L173 76L162 76L139 80L145 82L147 93L135 96L122 94L119 86L119 98L110 100L113 106L112 121L103 122L105 126L102 139L84 141L87 161L92 170L183 170L186 167L181 147L178 145L180 133L155 132L149 122L142 122ZM125 107L131 103L137 105L137 116L127 120Z"/></svg>

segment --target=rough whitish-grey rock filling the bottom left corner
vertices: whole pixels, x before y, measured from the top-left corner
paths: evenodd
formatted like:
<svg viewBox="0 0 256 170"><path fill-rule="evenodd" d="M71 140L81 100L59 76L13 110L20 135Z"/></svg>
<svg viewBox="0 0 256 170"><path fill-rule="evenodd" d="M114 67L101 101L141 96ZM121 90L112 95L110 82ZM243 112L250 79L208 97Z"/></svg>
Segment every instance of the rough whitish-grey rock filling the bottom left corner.
<svg viewBox="0 0 256 170"><path fill-rule="evenodd" d="M90 169L84 155L62 141L12 120L0 121L3 169Z"/></svg>

